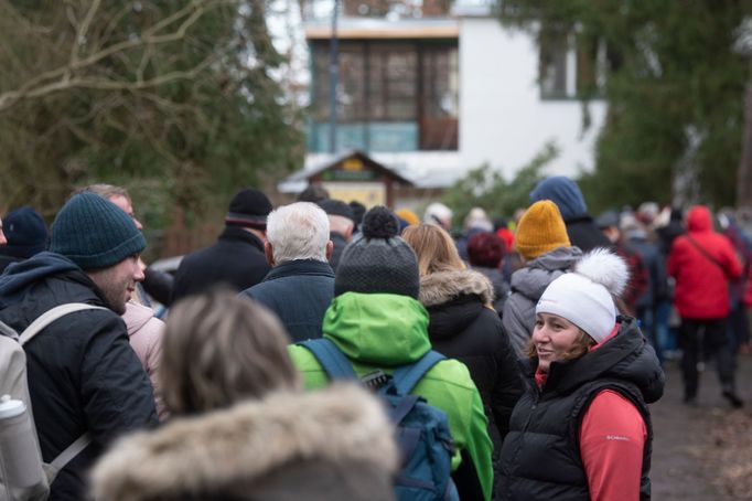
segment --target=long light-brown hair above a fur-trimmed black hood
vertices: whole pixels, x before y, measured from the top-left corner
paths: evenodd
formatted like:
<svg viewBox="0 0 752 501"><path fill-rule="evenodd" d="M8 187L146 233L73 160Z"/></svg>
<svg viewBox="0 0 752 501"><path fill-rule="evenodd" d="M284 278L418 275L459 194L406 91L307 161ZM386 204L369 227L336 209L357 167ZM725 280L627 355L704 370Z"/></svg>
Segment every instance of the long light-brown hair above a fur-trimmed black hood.
<svg viewBox="0 0 752 501"><path fill-rule="evenodd" d="M418 256L418 271L421 277L437 271L465 269L452 236L438 224L410 225L402 232L402 238Z"/></svg>

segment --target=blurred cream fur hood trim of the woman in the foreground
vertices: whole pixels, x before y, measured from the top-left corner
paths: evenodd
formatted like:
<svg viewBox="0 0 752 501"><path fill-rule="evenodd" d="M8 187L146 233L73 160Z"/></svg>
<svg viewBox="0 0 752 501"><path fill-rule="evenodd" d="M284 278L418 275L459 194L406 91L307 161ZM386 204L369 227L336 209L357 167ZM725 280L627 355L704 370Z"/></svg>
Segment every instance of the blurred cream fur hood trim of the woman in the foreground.
<svg viewBox="0 0 752 501"><path fill-rule="evenodd" d="M174 419L120 439L92 473L95 499L159 499L253 482L293 460L366 461L395 471L380 403L353 384L280 392L227 411Z"/></svg>

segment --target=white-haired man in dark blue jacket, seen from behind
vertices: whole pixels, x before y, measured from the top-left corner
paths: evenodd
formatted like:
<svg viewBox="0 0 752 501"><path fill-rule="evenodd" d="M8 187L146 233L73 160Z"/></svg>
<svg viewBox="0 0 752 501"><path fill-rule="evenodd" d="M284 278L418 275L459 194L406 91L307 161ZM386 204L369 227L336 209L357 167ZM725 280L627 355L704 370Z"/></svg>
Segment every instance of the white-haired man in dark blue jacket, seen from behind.
<svg viewBox="0 0 752 501"><path fill-rule="evenodd" d="M318 205L283 205L267 218L264 244L271 271L244 291L271 309L293 342L321 337L324 312L334 297L329 217Z"/></svg>

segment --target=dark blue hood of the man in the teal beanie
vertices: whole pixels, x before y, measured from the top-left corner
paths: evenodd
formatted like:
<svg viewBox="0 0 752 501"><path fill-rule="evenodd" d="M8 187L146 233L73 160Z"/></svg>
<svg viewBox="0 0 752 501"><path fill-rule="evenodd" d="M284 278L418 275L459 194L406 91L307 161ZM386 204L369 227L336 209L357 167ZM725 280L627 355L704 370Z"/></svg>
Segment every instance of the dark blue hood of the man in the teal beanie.
<svg viewBox="0 0 752 501"><path fill-rule="evenodd" d="M51 252L13 263L0 275L0 309L18 302L24 291L44 277L82 269L67 257Z"/></svg>

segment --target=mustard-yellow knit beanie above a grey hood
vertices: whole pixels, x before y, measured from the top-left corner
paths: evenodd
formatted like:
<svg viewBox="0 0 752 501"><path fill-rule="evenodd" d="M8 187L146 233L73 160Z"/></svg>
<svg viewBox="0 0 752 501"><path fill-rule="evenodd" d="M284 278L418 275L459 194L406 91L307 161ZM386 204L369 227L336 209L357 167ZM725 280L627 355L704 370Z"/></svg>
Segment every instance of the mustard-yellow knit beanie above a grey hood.
<svg viewBox="0 0 752 501"><path fill-rule="evenodd" d="M517 224L514 245L526 260L557 247L569 247L571 244L559 207L550 200L530 205Z"/></svg>

